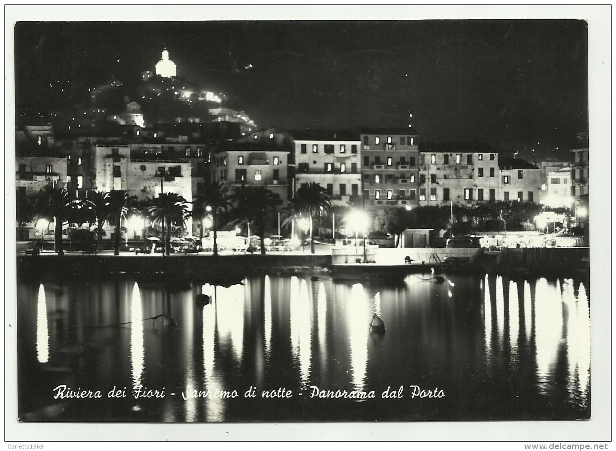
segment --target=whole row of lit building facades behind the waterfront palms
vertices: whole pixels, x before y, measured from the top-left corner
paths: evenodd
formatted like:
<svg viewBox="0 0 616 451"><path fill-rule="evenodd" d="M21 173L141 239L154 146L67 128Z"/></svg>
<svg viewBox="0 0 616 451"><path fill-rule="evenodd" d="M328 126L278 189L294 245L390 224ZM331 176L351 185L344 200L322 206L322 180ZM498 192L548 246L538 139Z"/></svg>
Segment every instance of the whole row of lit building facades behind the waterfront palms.
<svg viewBox="0 0 616 451"><path fill-rule="evenodd" d="M203 131L170 133L134 125L113 136L57 137L51 126L31 126L17 134L16 186L28 196L51 183L77 199L92 190L126 190L137 199L164 191L192 201L205 183L220 181L231 188L265 186L284 206L299 186L314 182L334 204L366 209L540 203L550 196L588 194L584 136L572 166L535 166L487 146L422 143L408 129L272 129L214 140Z"/></svg>

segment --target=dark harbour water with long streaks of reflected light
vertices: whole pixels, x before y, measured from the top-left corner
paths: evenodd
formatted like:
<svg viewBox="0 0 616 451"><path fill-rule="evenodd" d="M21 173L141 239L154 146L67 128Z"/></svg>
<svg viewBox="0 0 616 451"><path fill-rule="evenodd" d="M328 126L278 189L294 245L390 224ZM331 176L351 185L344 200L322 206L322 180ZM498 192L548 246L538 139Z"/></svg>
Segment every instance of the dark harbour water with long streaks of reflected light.
<svg viewBox="0 0 616 451"><path fill-rule="evenodd" d="M126 275L22 282L20 420L590 417L586 281L446 275L439 284L422 277L431 274L398 285L310 274L175 289ZM201 293L213 302L196 303ZM383 318L384 335L369 332L373 313ZM54 399L59 385L103 397ZM165 396L135 399L135 385L164 387ZM411 398L413 385L444 397ZM108 398L113 386L126 387L127 396ZM244 397L251 386L257 397ZM310 398L311 386L374 391L375 399ZM403 397L383 399L388 386L403 386ZM264 389L278 388L292 397L262 398ZM182 397L233 389L233 399Z"/></svg>

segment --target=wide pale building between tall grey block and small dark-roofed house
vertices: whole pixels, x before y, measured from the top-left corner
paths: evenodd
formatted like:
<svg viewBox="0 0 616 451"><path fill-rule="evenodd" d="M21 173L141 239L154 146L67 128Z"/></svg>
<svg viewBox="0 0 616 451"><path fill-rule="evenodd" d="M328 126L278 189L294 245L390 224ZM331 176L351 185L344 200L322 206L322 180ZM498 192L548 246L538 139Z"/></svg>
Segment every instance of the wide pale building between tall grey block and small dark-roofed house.
<svg viewBox="0 0 616 451"><path fill-rule="evenodd" d="M426 143L419 153L419 206L496 201L498 153L470 143Z"/></svg>

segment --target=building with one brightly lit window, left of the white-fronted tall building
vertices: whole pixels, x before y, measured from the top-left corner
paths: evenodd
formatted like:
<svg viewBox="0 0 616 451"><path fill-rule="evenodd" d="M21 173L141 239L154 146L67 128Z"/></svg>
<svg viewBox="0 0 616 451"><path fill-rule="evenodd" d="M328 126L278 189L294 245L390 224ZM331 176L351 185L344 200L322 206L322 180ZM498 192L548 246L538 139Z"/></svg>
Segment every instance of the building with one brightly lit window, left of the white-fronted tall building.
<svg viewBox="0 0 616 451"><path fill-rule="evenodd" d="M284 134L254 133L225 143L211 155L210 180L227 183L232 189L243 185L264 186L289 199L288 163L293 146Z"/></svg>

